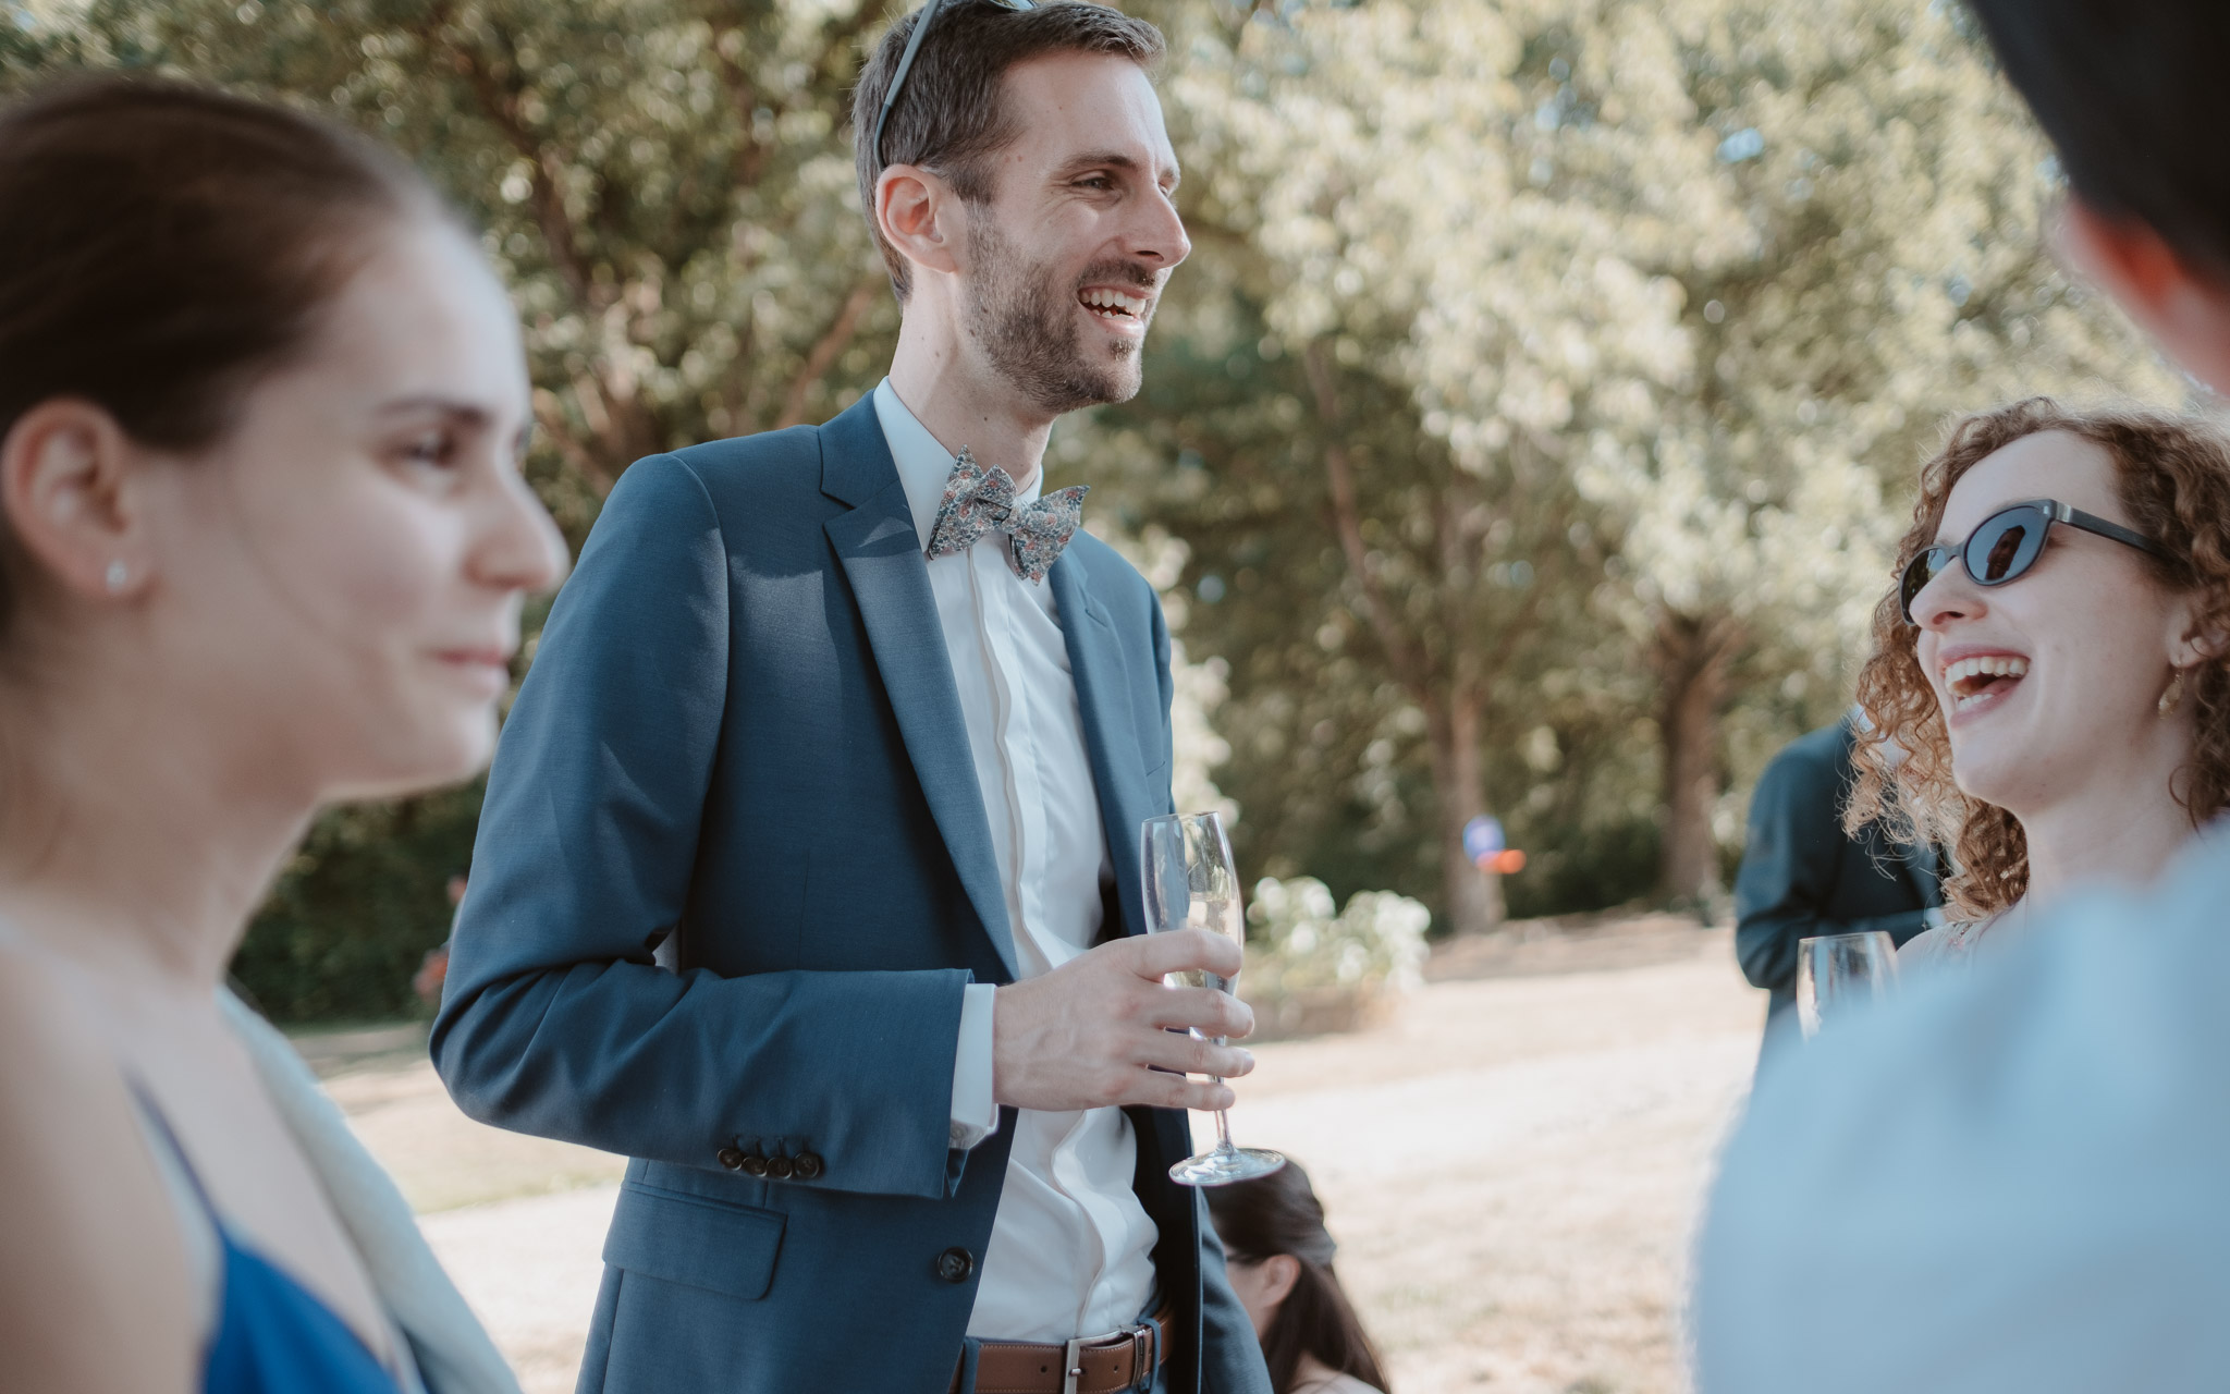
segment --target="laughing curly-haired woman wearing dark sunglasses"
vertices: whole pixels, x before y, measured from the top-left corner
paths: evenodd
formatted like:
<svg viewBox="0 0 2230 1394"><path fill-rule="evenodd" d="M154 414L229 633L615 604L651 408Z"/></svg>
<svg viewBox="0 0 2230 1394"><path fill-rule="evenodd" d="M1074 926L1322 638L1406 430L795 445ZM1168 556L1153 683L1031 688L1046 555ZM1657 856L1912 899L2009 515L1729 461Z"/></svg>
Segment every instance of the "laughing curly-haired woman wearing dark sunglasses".
<svg viewBox="0 0 2230 1394"><path fill-rule="evenodd" d="M1922 468L1875 609L1846 825L1945 848L1962 959L2078 883L2150 881L2230 803L2230 442L2047 399L1974 415ZM1900 752L1900 754L1893 754Z"/></svg>

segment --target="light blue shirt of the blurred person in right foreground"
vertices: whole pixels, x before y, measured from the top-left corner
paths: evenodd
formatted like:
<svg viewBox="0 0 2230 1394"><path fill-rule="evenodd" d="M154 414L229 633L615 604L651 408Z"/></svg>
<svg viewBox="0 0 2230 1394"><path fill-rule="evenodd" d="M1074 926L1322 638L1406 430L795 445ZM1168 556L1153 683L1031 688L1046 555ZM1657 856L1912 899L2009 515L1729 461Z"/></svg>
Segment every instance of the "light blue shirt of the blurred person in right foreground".
<svg viewBox="0 0 2230 1394"><path fill-rule="evenodd" d="M1699 1394L2230 1387L2230 825L1759 1071Z"/></svg>

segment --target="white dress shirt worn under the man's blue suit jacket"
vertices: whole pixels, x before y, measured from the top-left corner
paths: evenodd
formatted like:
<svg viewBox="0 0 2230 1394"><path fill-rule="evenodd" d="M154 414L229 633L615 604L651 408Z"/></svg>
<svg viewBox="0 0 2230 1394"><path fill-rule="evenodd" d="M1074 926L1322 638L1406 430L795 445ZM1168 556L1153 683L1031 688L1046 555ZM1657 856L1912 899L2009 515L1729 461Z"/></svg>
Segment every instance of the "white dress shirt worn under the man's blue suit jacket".
<svg viewBox="0 0 2230 1394"><path fill-rule="evenodd" d="M952 451L899 401L890 379L874 390L874 413L928 549ZM1041 488L1044 471L1017 506ZM1115 874L1061 618L1050 587L1015 575L999 531L932 560L930 591L968 720L1017 968L1037 977L1093 946L1102 888ZM975 1146L999 1124L990 1093L995 993L972 984L961 1006L957 1146ZM1135 1162L1137 1140L1119 1109L1019 1115L970 1336L1068 1340L1137 1320L1153 1296L1160 1236L1131 1191Z"/></svg>

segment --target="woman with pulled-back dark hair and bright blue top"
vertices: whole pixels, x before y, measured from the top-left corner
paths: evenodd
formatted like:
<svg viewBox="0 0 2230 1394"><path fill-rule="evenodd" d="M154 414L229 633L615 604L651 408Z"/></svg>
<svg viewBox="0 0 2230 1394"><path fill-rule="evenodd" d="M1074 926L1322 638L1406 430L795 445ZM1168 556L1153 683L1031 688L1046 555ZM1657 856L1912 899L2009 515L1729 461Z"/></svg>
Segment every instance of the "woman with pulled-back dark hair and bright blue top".
<svg viewBox="0 0 2230 1394"><path fill-rule="evenodd" d="M0 109L0 1383L517 1390L221 990L312 814L471 776L562 542L404 163L192 87Z"/></svg>

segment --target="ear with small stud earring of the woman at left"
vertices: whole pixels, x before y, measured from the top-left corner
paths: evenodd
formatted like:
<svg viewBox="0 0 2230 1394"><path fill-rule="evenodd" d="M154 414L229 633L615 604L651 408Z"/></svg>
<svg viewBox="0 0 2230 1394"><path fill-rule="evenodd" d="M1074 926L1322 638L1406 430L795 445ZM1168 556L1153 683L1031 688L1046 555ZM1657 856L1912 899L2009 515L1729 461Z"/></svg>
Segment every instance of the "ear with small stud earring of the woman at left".
<svg viewBox="0 0 2230 1394"><path fill-rule="evenodd" d="M132 596L147 584L134 455L116 417L74 397L40 401L0 439L0 517L67 591Z"/></svg>

